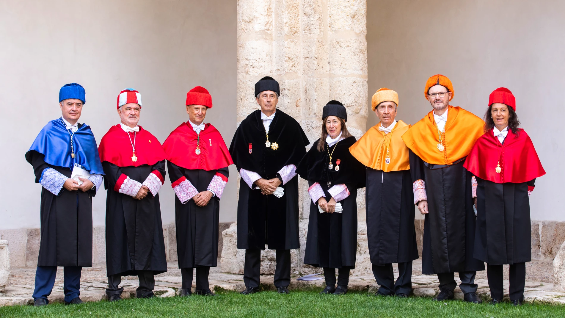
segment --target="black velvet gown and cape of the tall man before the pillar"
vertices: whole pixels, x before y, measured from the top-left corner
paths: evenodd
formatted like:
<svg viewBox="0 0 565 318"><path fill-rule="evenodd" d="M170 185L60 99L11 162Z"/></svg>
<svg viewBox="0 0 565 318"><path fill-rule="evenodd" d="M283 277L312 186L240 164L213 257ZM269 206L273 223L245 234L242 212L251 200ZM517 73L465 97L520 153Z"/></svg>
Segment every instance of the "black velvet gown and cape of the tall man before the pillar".
<svg viewBox="0 0 565 318"><path fill-rule="evenodd" d="M285 165L298 165L310 143L298 121L276 110L269 127L269 140L277 143L274 150L266 147L266 133L261 111L252 112L241 121L229 146L233 163L272 179ZM251 147L251 153L249 152ZM298 176L284 185L284 195L263 195L260 189L250 189L243 179L237 203L237 248L271 250L298 249Z"/></svg>

